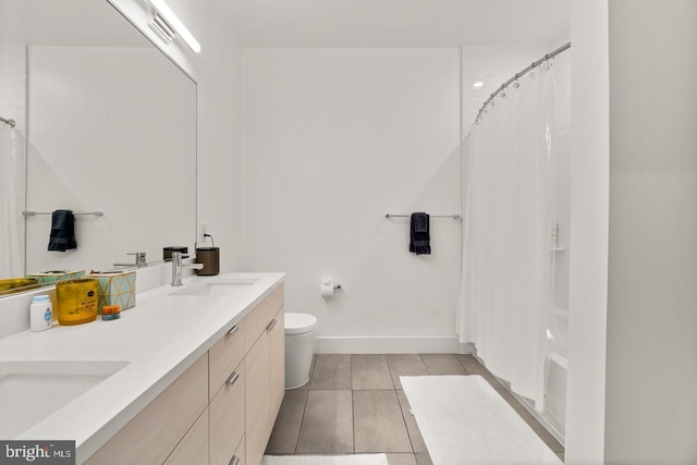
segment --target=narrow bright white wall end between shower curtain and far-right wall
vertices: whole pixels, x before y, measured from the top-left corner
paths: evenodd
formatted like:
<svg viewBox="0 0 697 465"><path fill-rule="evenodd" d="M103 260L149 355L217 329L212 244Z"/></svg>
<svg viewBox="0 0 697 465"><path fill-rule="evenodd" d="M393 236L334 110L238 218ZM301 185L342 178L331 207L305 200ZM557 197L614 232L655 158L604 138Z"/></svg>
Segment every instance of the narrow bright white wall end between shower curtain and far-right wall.
<svg viewBox="0 0 697 465"><path fill-rule="evenodd" d="M572 2L572 184L567 464L604 455L608 289L608 0Z"/></svg>

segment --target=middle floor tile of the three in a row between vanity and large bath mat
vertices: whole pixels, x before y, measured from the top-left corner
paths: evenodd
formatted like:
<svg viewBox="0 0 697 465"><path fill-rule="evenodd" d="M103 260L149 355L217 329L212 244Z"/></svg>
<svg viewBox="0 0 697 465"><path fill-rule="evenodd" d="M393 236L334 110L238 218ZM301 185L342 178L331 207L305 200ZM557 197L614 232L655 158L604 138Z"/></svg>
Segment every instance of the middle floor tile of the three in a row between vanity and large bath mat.
<svg viewBox="0 0 697 465"><path fill-rule="evenodd" d="M296 454L352 453L353 408L348 390L309 390Z"/></svg>

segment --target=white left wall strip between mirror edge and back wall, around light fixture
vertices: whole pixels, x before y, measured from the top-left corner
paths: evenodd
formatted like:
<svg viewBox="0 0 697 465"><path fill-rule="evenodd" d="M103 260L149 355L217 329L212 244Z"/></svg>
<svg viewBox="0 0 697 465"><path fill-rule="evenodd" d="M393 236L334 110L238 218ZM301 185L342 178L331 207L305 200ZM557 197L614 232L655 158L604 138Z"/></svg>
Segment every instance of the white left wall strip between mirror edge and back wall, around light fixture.
<svg viewBox="0 0 697 465"><path fill-rule="evenodd" d="M198 222L208 224L220 247L221 272L242 270L242 47L234 30L223 22L216 0L168 0L201 46L200 53L193 53L179 40L161 44L147 25L149 7L144 0L109 1L198 84Z"/></svg>

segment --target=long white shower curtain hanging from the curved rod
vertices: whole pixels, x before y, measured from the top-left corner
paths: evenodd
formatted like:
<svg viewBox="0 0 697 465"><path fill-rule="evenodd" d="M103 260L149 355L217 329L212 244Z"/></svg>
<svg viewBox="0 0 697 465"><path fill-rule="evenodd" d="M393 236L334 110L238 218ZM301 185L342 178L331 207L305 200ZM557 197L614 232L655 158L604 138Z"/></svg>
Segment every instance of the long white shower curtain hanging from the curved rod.
<svg viewBox="0 0 697 465"><path fill-rule="evenodd" d="M460 341L538 411L554 274L554 84L543 68L473 125L457 313Z"/></svg>

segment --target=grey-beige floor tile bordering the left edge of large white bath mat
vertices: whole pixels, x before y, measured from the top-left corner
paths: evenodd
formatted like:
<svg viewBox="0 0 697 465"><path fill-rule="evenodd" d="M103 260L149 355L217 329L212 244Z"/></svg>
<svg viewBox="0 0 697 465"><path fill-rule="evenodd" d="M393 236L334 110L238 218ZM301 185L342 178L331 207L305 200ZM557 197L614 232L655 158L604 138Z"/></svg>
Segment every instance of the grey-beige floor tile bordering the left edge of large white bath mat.
<svg viewBox="0 0 697 465"><path fill-rule="evenodd" d="M355 449L358 452L413 452L396 392L354 391Z"/></svg>

